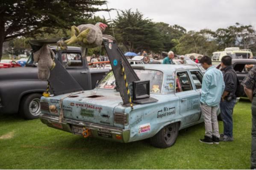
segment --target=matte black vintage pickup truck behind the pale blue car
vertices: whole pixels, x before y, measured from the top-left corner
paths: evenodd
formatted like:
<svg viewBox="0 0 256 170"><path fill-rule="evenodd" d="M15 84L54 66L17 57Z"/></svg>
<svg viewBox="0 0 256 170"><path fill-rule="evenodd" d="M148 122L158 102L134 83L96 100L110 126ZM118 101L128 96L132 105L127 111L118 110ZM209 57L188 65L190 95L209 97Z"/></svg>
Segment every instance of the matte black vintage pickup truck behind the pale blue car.
<svg viewBox="0 0 256 170"><path fill-rule="evenodd" d="M83 90L95 88L109 69L88 68L88 62L81 57L79 47L69 46L58 50L51 46L58 59L69 74L74 77ZM46 91L47 81L38 79L38 69L32 55L24 68L4 68L0 71L0 113L20 113L25 119L38 118L40 98Z"/></svg>

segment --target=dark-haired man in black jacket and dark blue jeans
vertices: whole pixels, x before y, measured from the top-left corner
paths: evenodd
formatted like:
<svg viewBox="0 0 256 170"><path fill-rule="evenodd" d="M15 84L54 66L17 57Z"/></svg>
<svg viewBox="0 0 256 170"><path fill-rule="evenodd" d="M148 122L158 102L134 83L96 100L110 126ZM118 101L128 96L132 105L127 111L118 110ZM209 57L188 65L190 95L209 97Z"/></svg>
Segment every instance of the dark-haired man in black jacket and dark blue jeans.
<svg viewBox="0 0 256 170"><path fill-rule="evenodd" d="M224 71L225 90L221 96L221 118L224 125L224 133L221 134L220 141L233 141L233 120L232 113L235 107L235 91L237 88L237 77L232 66L232 58L224 56L221 58L221 68Z"/></svg>

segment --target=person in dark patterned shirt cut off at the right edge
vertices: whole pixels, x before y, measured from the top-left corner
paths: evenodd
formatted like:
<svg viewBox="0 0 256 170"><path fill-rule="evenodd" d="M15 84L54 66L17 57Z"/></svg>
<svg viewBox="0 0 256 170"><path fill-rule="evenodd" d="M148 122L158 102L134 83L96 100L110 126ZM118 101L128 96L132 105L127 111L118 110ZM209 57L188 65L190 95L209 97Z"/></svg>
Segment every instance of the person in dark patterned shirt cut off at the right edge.
<svg viewBox="0 0 256 170"><path fill-rule="evenodd" d="M251 169L256 170L256 66L254 66L241 83L244 92L252 102L252 149Z"/></svg>

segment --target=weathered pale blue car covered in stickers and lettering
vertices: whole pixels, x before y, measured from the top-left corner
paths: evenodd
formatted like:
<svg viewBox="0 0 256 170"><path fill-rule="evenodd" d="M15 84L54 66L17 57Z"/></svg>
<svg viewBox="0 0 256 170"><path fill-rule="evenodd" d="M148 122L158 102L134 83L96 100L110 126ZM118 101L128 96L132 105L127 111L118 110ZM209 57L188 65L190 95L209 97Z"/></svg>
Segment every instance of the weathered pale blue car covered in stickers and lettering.
<svg viewBox="0 0 256 170"><path fill-rule="evenodd" d="M150 80L157 102L122 105L110 71L93 90L41 97L41 122L76 135L116 142L150 138L155 147L172 146L179 130L203 122L203 74L193 65L135 65L140 80ZM62 107L60 107L62 103ZM219 111L218 111L219 113Z"/></svg>

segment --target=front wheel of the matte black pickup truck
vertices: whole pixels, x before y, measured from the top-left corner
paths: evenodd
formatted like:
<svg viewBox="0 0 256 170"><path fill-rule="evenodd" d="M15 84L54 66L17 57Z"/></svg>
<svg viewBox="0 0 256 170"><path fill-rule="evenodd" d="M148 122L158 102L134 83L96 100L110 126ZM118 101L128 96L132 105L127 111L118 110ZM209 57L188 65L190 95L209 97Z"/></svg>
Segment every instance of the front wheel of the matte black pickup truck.
<svg viewBox="0 0 256 170"><path fill-rule="evenodd" d="M33 93L24 96L20 103L20 114L25 119L37 119L40 111L40 98L42 94Z"/></svg>

